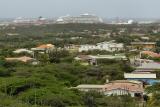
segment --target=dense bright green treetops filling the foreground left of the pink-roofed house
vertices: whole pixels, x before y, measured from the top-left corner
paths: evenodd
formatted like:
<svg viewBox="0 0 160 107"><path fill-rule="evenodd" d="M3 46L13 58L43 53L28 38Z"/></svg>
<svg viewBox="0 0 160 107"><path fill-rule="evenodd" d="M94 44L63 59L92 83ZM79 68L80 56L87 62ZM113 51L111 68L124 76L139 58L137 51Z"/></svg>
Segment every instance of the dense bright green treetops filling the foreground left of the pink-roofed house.
<svg viewBox="0 0 160 107"><path fill-rule="evenodd" d="M112 61L97 67L77 62L33 66L1 61L0 92L32 105L82 106L85 105L83 93L69 88L79 84L103 84L106 76L110 80L123 79L126 69L122 63Z"/></svg>

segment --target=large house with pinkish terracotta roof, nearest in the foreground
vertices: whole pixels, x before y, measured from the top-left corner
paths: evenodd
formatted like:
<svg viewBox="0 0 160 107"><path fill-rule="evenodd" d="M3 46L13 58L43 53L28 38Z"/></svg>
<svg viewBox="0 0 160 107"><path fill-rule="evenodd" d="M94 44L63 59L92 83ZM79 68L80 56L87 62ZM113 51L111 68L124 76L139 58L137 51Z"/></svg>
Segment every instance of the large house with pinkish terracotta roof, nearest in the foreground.
<svg viewBox="0 0 160 107"><path fill-rule="evenodd" d="M105 95L131 95L131 97L142 97L143 84L138 81L118 80L106 85Z"/></svg>

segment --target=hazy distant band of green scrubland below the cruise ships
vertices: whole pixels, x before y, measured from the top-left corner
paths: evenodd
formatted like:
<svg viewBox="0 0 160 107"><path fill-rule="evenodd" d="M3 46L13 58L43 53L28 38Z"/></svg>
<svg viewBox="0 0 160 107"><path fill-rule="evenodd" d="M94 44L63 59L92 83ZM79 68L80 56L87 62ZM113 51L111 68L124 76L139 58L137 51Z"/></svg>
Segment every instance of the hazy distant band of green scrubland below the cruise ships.
<svg viewBox="0 0 160 107"><path fill-rule="evenodd" d="M158 40L158 33L152 30L159 25L106 25L106 24L55 24L42 26L8 26L0 28L1 47L33 47L41 43L53 43L63 47L64 44L94 44L115 39L117 42L129 44L140 36L140 33ZM138 29L138 30L137 30ZM122 31L122 32L120 32ZM153 36L151 36L153 35ZM71 37L82 37L71 39Z"/></svg>

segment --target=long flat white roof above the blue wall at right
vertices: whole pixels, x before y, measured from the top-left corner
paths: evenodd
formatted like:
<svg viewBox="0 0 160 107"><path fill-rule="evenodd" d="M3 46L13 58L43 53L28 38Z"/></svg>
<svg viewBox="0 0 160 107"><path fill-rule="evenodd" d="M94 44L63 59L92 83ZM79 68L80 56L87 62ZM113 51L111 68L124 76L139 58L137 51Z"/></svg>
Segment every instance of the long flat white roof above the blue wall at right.
<svg viewBox="0 0 160 107"><path fill-rule="evenodd" d="M150 78L154 78L156 79L156 74L153 73L124 73L124 78L130 78L130 79L140 79L140 78L144 78L144 79L150 79Z"/></svg>

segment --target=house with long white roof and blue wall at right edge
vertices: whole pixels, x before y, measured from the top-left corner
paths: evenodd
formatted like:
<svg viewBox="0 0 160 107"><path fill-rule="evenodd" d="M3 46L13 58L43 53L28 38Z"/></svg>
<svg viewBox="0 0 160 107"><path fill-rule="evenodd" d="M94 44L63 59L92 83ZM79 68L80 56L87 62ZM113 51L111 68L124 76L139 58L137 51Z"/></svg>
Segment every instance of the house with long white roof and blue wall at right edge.
<svg viewBox="0 0 160 107"><path fill-rule="evenodd" d="M156 74L150 72L132 72L132 73L124 73L124 78L127 80L136 80L142 81L145 84L153 85L157 82Z"/></svg>

